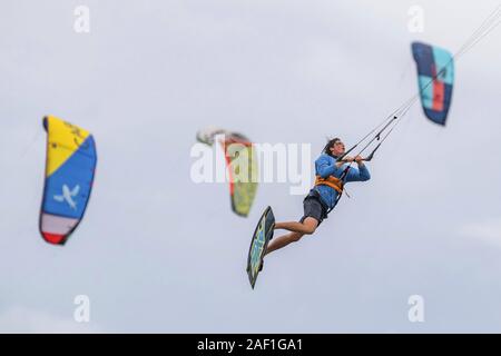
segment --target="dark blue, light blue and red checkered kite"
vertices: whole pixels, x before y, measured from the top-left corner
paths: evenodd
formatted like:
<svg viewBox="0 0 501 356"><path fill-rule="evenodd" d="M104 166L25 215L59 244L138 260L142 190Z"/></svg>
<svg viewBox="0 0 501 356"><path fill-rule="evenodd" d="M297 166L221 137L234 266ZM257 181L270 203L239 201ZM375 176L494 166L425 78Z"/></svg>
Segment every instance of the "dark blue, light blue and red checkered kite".
<svg viewBox="0 0 501 356"><path fill-rule="evenodd" d="M435 123L445 125L454 85L452 55L439 47L412 43L418 66L418 83L424 115Z"/></svg>

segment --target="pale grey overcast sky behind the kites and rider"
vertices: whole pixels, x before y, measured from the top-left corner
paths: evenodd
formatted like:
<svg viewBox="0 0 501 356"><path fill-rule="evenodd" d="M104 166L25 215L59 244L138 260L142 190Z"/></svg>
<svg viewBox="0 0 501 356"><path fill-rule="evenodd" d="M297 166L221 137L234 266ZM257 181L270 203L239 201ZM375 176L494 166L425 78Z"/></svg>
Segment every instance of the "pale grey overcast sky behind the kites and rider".
<svg viewBox="0 0 501 356"><path fill-rule="evenodd" d="M448 127L415 105L372 180L271 255L255 290L257 219L271 205L296 220L303 197L262 184L240 218L227 185L189 175L209 125L311 144L312 162L327 136L350 146L416 92L412 41L455 52L498 2L2 1L0 330L501 332L501 28L456 61ZM73 30L80 4L90 33ZM38 233L48 113L90 130L99 156L65 247ZM90 323L73 320L78 295Z"/></svg>

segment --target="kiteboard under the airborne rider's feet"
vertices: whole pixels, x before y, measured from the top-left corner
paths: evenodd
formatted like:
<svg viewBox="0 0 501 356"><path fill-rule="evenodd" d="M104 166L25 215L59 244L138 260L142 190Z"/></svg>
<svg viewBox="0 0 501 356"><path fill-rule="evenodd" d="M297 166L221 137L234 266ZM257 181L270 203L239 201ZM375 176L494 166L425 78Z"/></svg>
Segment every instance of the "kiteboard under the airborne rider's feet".
<svg viewBox="0 0 501 356"><path fill-rule="evenodd" d="M259 222L257 222L248 250L247 274L253 289L256 284L257 275L261 271L264 254L269 240L273 238L275 216L273 215L272 207L267 207L263 212Z"/></svg>

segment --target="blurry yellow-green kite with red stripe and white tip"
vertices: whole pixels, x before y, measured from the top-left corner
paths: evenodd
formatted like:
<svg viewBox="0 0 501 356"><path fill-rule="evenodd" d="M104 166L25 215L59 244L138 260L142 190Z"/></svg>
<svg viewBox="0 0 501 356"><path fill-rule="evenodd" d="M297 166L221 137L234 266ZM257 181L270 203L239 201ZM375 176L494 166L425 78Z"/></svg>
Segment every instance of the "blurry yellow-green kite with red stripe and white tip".
<svg viewBox="0 0 501 356"><path fill-rule="evenodd" d="M257 191L257 156L253 142L244 135L224 129L207 128L197 132L197 140L213 146L218 139L225 152L229 172L232 210L248 216Z"/></svg>

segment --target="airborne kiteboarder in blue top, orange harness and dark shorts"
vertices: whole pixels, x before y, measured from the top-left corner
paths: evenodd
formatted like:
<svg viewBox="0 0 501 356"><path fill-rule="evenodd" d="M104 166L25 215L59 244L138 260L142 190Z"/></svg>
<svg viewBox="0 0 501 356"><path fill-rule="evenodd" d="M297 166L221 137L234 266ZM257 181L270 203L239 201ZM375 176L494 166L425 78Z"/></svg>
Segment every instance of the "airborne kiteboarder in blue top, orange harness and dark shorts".
<svg viewBox="0 0 501 356"><path fill-rule="evenodd" d="M331 139L325 145L322 155L315 161L315 186L303 201L304 216L299 221L275 222L275 230L284 229L289 233L271 240L265 255L298 241L305 235L314 234L340 200L344 184L371 179L361 156L352 158L344 155L345 146L340 138ZM358 167L352 167L352 162L356 162Z"/></svg>

